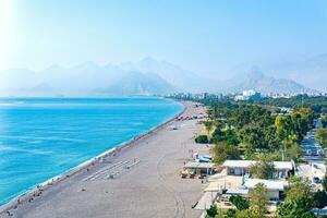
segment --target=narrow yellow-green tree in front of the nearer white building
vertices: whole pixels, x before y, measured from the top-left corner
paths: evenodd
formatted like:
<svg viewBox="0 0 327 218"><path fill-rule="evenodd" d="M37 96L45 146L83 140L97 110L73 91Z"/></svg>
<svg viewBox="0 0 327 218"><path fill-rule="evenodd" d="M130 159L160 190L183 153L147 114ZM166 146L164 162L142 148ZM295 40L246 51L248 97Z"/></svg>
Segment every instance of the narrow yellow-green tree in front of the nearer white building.
<svg viewBox="0 0 327 218"><path fill-rule="evenodd" d="M263 183L255 185L253 190L250 191L250 209L257 217L265 217L267 213L268 205L268 191Z"/></svg>

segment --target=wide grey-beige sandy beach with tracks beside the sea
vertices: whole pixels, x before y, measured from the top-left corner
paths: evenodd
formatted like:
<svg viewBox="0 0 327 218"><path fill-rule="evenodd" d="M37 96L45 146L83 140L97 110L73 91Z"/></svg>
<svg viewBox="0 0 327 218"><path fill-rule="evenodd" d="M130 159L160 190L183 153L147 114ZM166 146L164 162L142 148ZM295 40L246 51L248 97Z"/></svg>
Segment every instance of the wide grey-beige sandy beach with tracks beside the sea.
<svg viewBox="0 0 327 218"><path fill-rule="evenodd" d="M193 102L184 106L180 117L205 111ZM208 152L194 143L202 128L197 122L174 119L114 155L88 162L34 196L27 195L20 204L2 206L0 217L199 217L202 213L192 206L203 194L202 181L179 174L192 150Z"/></svg>

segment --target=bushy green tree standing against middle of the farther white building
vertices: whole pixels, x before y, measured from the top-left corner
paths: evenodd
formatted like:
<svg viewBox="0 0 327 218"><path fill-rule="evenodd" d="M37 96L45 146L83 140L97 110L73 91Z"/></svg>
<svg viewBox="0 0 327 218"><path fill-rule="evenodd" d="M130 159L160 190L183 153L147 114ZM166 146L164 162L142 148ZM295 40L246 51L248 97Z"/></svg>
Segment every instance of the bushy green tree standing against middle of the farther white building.
<svg viewBox="0 0 327 218"><path fill-rule="evenodd" d="M250 168L250 173L258 179L272 179L275 172L276 170L274 162L268 161L266 158L263 158Z"/></svg>

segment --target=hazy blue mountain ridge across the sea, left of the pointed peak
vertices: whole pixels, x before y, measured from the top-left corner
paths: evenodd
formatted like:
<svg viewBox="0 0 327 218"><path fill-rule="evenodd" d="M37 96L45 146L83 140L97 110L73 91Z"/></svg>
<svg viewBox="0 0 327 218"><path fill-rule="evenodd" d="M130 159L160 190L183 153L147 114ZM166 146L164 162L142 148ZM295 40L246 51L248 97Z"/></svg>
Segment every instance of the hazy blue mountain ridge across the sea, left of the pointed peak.
<svg viewBox="0 0 327 218"><path fill-rule="evenodd" d="M0 96L162 95L178 90L157 74L93 62L51 65L39 72L1 71L0 82Z"/></svg>

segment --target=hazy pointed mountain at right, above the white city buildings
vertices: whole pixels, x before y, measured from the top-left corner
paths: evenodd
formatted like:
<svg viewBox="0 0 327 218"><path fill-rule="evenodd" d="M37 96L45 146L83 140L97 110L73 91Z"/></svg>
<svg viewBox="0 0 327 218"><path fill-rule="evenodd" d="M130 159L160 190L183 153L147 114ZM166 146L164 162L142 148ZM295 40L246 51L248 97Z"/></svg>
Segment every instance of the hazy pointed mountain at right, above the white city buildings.
<svg viewBox="0 0 327 218"><path fill-rule="evenodd" d="M267 76L257 68L252 69L245 76L234 77L232 81L234 84L227 88L227 92L254 89L263 94L316 93L292 80Z"/></svg>

